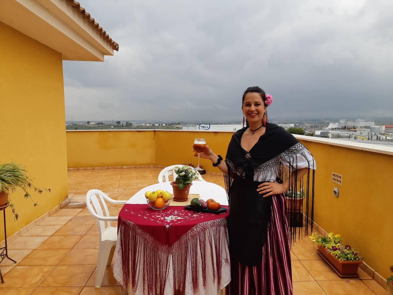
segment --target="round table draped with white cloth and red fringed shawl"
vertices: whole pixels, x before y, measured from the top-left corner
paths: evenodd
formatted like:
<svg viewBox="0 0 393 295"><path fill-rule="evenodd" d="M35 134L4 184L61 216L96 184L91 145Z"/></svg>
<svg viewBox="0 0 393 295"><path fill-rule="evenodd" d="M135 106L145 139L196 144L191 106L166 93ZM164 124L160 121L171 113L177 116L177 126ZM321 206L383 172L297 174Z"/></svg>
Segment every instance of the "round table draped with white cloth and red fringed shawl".
<svg viewBox="0 0 393 295"><path fill-rule="evenodd" d="M123 286L127 284L124 280L129 278L135 280L137 278L137 288L134 290L131 287L132 282L129 281L128 292L130 295L142 295L148 294L148 283L145 282L144 278L154 273L166 273L165 287L158 293L172 295L176 293L173 289L173 286L176 285L176 283L174 284L176 280L174 274L176 272L175 262L176 259L179 261L179 257L182 257L184 263L181 265L184 265L187 269L184 277L185 292L183 295L193 295L195 293L204 295L222 294L222 289L229 284L231 279L228 231L226 228L228 214L222 214L223 217L217 219L217 215L221 214L209 213L217 216L211 217L216 218L215 220L209 220L211 218L207 216L208 214L202 216L203 213L184 210L183 206L169 206L163 211L152 210L146 204L145 192L158 189L173 193L170 182L156 183L134 194L121 210L118 220L114 277ZM204 200L212 198L221 205L228 206L225 189L214 183L193 181L190 194L199 194L200 198ZM160 213L163 215L160 216ZM173 218L173 216L182 218L174 219L174 222L168 223L168 219ZM173 235L176 236L177 234L179 237L178 230L181 227L184 229L187 225L192 227L187 228L186 232L182 232L178 240L173 240ZM162 239L160 240L158 236L154 236L154 233L157 234L157 230L159 235L164 234L167 230L168 241L171 242L162 242ZM152 269L151 266L147 267L147 265L144 266L144 259L150 260L150 262L146 262L150 263L149 265L152 264L151 257L155 254L154 250L152 252L151 249L162 249L161 251L167 253L165 255L169 260L165 264L167 265L164 268L165 271L162 271L162 267L158 266L157 269ZM185 252L183 249L185 249ZM162 258L158 261L162 261ZM153 262L153 265L156 265L156 263ZM177 264L177 268L178 266L179 264ZM123 277L124 270L129 271L129 275ZM198 291L193 289L194 277L191 273L198 277ZM205 286L202 283L203 277L206 277Z"/></svg>

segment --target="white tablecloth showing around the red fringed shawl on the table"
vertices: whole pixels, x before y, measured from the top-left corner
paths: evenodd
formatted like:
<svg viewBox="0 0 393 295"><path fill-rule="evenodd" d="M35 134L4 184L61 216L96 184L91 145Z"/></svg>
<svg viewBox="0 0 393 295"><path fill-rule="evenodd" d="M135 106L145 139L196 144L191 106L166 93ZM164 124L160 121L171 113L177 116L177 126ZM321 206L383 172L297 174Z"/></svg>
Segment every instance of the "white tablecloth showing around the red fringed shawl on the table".
<svg viewBox="0 0 393 295"><path fill-rule="evenodd" d="M170 185L169 182L165 183L156 183L151 186L147 186L140 190L138 193L136 193L129 201L127 201L127 204L146 204L146 198L145 198L145 192L150 190L158 190L162 189L164 191L168 191L170 193L173 193L172 186ZM200 194L200 198L204 199L205 201L207 199L214 199L215 201L219 202L221 205L228 205L228 199L227 199L227 194L224 188L221 186L214 184L214 183L209 183L206 181L193 181L193 185L190 188L190 194ZM118 236L118 243L116 243L116 250L115 250L115 261L114 261L114 277L116 280L118 280L121 284L123 284L123 265L122 265L122 255L121 253L121 247L119 247L120 236ZM208 241L208 239L206 239ZM214 241L213 241L214 242ZM215 255L220 255L221 257L227 257L229 258L229 249L228 247L222 247L222 252L221 253L211 253L210 251L211 247L210 245L206 245L205 253L206 257L211 257L213 256L213 261L215 261ZM198 250L199 251L199 250ZM198 252L198 256L200 253ZM189 265L187 263L187 265ZM170 261L169 263L169 277L167 278L167 284L165 285L165 295L173 295L174 290L173 290L173 273L172 273L172 262ZM217 293L221 293L221 289L225 288L226 285L229 284L231 280L231 270L230 270L230 264L223 263L221 265L221 284L220 286L217 286L217 279L213 281L213 270L215 268L215 265L213 266L212 264L212 259L206 259L206 288L202 285L202 280L199 280L200 286L199 286L199 293L201 295L216 295ZM140 282L143 282L142 278L142 273L140 273ZM202 269L200 269L200 277L202 277ZM143 295L143 283L140 283L140 286L136 289L134 292L132 288L129 289L129 294L136 294L136 295ZM191 271L187 271L187 276L186 276L186 290L185 290L185 295L194 295L193 288L192 288L192 280L191 280Z"/></svg>

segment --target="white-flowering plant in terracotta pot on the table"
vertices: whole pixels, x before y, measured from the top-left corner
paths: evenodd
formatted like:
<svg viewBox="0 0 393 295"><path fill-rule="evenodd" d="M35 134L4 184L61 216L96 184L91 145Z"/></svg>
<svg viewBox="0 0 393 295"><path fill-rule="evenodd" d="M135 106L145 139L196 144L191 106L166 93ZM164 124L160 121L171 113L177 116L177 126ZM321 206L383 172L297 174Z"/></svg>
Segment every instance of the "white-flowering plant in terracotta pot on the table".
<svg viewBox="0 0 393 295"><path fill-rule="evenodd" d="M171 182L173 186L173 200L174 201L187 201L190 186L193 180L198 179L198 175L193 171L193 168L187 165L175 166L173 172L176 173L175 181Z"/></svg>

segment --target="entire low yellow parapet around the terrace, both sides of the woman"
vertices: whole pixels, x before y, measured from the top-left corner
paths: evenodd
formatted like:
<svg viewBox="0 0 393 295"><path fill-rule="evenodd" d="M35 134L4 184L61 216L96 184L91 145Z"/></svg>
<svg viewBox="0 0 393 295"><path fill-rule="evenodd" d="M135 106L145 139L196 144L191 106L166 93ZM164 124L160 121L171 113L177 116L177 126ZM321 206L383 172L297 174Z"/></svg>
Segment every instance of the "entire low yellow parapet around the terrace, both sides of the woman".
<svg viewBox="0 0 393 295"><path fill-rule="evenodd" d="M67 131L69 167L169 166L197 163L192 145L195 137L206 138L215 153L225 157L231 132L206 131ZM391 191L393 156L300 141L314 155L314 220L328 232L342 235L364 256L364 261L387 277L393 264ZM154 147L153 147L154 145ZM90 151L90 152L89 152ZM208 171L219 172L208 160L201 160ZM332 172L343 176L342 185L331 181ZM340 196L334 197L338 187Z"/></svg>

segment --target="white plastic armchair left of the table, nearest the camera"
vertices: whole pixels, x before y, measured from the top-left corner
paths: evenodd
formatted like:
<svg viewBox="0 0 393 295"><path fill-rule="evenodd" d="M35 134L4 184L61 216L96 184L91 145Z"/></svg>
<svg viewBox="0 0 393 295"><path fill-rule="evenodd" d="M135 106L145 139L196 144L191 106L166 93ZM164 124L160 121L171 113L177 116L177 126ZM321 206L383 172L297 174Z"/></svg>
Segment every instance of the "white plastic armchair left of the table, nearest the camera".
<svg viewBox="0 0 393 295"><path fill-rule="evenodd" d="M97 198L97 195L99 196L99 199ZM105 204L105 200L113 204L127 203L127 201L117 201L111 199L103 192L101 192L101 190L89 190L86 194L86 205L90 214L92 214L92 216L97 221L99 234L97 269L95 273L95 288L101 287L105 267L107 265L110 265L112 262L113 254L116 247L116 241L118 239L118 228L110 226L110 221L118 221L118 216L109 216L109 211L107 204ZM102 207L104 208L105 216L102 211L100 201ZM105 221L107 223L106 226Z"/></svg>

